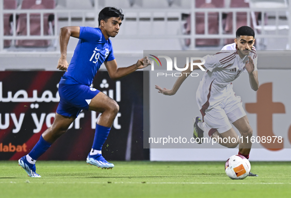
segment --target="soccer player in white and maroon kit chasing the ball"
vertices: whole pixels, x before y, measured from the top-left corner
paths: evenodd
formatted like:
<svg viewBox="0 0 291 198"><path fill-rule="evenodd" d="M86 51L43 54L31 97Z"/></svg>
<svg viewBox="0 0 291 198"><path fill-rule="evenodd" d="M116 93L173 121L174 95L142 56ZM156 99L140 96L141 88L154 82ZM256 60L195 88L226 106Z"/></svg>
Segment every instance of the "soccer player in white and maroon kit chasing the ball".
<svg viewBox="0 0 291 198"><path fill-rule="evenodd" d="M220 140L218 143L228 148L235 148L239 144L238 154L248 159L252 147L250 138L253 135L253 129L242 108L240 97L236 96L232 90L231 82L246 71L249 74L252 89L257 91L259 88L258 56L254 47L254 30L247 26L238 28L234 42L224 46L219 53L204 57L205 63L202 67L207 70L196 92L196 101L202 114L203 122L200 117L197 116L195 118L194 138L202 138L204 131L208 133L209 137ZM195 62L201 61L197 60ZM199 67L194 66L194 69L199 69ZM191 72L189 63L188 69L182 72L182 76L177 79L172 89L162 89L157 85L156 89L164 95L174 95L187 78L187 73ZM224 143L222 141L223 138L238 139L231 123L240 132L243 137L242 141ZM250 176L258 175L250 173Z"/></svg>

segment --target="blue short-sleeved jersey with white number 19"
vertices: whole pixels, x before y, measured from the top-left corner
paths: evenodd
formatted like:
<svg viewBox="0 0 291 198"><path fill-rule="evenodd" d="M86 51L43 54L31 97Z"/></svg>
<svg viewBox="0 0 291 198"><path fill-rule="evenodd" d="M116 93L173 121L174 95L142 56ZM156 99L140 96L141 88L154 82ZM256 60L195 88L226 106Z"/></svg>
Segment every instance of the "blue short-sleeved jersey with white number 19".
<svg viewBox="0 0 291 198"><path fill-rule="evenodd" d="M101 64L114 59L111 41L100 28L80 27L79 42L60 84L90 86Z"/></svg>

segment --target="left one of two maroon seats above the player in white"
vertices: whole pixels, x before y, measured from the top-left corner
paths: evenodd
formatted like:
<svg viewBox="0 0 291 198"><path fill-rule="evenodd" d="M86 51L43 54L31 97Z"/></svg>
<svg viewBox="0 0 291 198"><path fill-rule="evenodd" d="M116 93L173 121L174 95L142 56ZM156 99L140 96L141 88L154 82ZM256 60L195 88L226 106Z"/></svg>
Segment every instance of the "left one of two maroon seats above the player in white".
<svg viewBox="0 0 291 198"><path fill-rule="evenodd" d="M218 0L222 4L224 0ZM195 7L199 8L216 8L214 4L212 4L211 0L196 0ZM218 12L209 12L208 13L208 33L209 34L218 34ZM195 14L195 33L196 34L204 34L205 22L204 22L204 13L197 12ZM191 33L191 15L188 16L185 24L186 34ZM189 46L191 39L185 40L185 45ZM218 46L220 44L220 39L196 39L195 44L198 47L204 46Z"/></svg>

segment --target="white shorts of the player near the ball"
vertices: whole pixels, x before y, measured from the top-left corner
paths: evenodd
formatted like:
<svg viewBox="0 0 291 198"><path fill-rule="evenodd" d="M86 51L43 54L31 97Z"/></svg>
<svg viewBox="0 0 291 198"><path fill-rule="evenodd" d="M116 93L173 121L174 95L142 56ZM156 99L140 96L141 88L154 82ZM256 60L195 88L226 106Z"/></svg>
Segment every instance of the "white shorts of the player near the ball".
<svg viewBox="0 0 291 198"><path fill-rule="evenodd" d="M232 128L232 122L245 115L240 96L236 96L232 92L218 106L205 111L203 117L204 132L208 133L210 129L217 129L219 133L224 133Z"/></svg>

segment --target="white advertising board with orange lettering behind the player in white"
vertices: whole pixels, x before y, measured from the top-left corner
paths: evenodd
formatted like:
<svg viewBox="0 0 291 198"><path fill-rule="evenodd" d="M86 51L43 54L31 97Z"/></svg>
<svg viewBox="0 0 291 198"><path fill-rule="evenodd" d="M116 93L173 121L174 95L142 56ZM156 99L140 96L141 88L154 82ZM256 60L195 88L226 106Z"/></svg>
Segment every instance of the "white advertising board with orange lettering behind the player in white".
<svg viewBox="0 0 291 198"><path fill-rule="evenodd" d="M264 61L261 59L259 57L260 64ZM278 60L277 65L282 65L282 62ZM164 96L154 89L155 85L171 88L176 80L164 77L161 84L156 78L156 72L159 71L150 74L150 137L169 135L172 138L181 137L189 140L193 137L192 118L196 115L201 116L195 92L203 72L197 72L200 77L188 77L174 96ZM253 128L253 136L282 137L280 145L272 146L258 139L253 143L251 161L291 161L290 76L291 69L261 69L260 87L257 92L251 89L247 73L241 74L233 82L233 89L237 96L241 96L243 107ZM236 132L238 133L237 130ZM204 134L204 137L209 138L208 134ZM212 145L211 142L164 145L152 143L150 148L151 161L226 161L229 156L238 153L237 148L226 149L218 143Z"/></svg>

